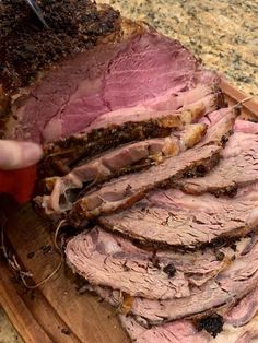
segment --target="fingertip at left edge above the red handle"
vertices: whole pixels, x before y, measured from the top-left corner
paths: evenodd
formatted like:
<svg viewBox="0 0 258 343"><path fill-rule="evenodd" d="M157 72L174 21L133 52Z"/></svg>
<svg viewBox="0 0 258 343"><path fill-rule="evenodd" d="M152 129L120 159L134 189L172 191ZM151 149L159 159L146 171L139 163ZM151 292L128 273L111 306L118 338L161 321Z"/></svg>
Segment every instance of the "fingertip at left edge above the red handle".
<svg viewBox="0 0 258 343"><path fill-rule="evenodd" d="M43 155L42 147L31 142L0 140L0 169L21 169L36 164Z"/></svg>

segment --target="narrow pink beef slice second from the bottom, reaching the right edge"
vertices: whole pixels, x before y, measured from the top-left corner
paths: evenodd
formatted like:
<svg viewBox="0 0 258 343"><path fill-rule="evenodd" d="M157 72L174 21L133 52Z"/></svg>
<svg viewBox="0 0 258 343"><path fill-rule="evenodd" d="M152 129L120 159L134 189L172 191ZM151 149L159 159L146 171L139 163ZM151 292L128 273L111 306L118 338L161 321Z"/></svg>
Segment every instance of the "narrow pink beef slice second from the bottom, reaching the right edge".
<svg viewBox="0 0 258 343"><path fill-rule="evenodd" d="M257 282L258 244L190 297L162 301L137 298L131 312L152 323L194 316L241 299L256 287Z"/></svg>

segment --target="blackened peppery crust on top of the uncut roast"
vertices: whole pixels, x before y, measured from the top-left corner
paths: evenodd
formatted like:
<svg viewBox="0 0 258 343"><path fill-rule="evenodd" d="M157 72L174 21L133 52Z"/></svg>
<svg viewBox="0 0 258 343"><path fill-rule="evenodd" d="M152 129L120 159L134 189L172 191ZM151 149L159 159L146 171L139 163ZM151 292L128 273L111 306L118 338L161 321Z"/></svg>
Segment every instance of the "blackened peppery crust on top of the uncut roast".
<svg viewBox="0 0 258 343"><path fill-rule="evenodd" d="M0 84L14 93L39 71L70 54L94 47L119 31L120 15L87 0L38 1L50 29L42 26L23 0L0 1Z"/></svg>

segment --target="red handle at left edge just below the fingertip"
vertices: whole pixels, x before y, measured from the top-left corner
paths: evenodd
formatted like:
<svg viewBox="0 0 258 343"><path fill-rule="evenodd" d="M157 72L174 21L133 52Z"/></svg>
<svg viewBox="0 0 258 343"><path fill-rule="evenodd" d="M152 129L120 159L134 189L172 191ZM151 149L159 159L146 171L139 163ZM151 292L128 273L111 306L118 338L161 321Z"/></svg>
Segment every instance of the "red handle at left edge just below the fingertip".
<svg viewBox="0 0 258 343"><path fill-rule="evenodd" d="M9 193L20 203L32 199L36 184L36 166L19 170L0 170L0 193Z"/></svg>

